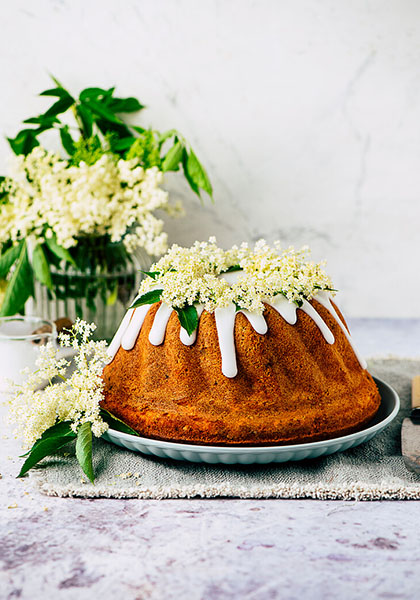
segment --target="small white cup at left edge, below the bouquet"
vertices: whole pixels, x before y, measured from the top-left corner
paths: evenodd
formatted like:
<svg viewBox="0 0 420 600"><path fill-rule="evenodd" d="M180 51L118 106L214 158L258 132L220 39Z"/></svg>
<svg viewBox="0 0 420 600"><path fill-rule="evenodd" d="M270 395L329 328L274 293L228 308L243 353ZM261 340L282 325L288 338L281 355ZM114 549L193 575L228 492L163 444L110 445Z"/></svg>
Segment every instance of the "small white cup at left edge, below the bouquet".
<svg viewBox="0 0 420 600"><path fill-rule="evenodd" d="M47 342L57 344L53 321L27 316L0 318L0 392L10 391L10 381L25 381L22 369L36 370L39 348Z"/></svg>

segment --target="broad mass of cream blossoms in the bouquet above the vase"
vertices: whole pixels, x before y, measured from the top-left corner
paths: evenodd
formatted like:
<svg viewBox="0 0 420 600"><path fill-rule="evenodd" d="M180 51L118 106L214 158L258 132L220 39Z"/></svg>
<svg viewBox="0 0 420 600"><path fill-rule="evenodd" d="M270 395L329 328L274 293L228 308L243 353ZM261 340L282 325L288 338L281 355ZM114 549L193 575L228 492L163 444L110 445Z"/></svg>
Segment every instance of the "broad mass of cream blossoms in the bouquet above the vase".
<svg viewBox="0 0 420 600"><path fill-rule="evenodd" d="M157 167L144 170L136 159L111 153L93 165L74 166L38 146L17 156L12 168L0 214L0 244L55 233L58 244L69 248L78 236L108 234L112 242L123 240L129 252L137 247L156 256L165 252L163 221L153 213L173 214L181 207L169 204Z"/></svg>

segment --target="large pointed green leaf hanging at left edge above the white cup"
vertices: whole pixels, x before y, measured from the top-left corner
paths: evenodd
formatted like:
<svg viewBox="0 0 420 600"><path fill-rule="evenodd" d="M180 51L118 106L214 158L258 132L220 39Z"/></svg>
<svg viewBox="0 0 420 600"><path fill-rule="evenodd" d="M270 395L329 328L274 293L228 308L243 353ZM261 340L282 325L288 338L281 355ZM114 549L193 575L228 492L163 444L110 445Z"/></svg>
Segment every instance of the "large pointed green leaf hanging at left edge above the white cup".
<svg viewBox="0 0 420 600"><path fill-rule="evenodd" d="M1 317L10 317L23 310L26 300L33 295L32 267L28 260L26 243L22 245L12 277L7 284Z"/></svg>

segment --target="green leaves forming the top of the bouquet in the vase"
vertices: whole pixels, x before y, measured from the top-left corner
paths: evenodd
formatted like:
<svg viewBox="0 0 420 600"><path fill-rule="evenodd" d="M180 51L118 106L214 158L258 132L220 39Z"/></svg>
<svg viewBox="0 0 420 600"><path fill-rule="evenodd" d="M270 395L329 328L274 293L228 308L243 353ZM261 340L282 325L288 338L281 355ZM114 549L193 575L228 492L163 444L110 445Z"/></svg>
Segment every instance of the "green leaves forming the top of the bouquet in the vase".
<svg viewBox="0 0 420 600"><path fill-rule="evenodd" d="M117 97L114 87L88 87L76 97L55 77L52 80L56 87L40 94L53 98L51 106L40 115L25 119L28 127L14 138L7 138L15 154L29 154L40 145L38 138L42 133L55 129L72 164L81 160L93 164L105 151L111 151L124 159L137 158L145 169L156 166L168 172L182 168L194 193L200 196L204 191L213 197L206 170L177 130L160 133L124 120L123 115L145 108L137 98ZM67 113L72 115L74 126L63 120Z"/></svg>

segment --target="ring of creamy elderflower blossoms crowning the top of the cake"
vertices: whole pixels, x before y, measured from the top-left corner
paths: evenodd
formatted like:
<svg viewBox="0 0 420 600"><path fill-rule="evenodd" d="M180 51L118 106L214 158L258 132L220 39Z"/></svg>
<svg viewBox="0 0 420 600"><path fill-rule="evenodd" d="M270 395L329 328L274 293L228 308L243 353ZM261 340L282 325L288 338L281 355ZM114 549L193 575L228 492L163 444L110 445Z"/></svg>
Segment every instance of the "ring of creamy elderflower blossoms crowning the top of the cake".
<svg viewBox="0 0 420 600"><path fill-rule="evenodd" d="M155 279L143 281L140 294L161 289L161 299L175 308L196 302L213 312L235 302L261 314L264 302L277 294L299 303L319 290L333 291L323 270L325 263L309 261L308 255L307 247L282 251L279 242L270 247L264 240L253 249L244 243L226 251L216 245L215 238L191 248L174 245L153 265Z"/></svg>

